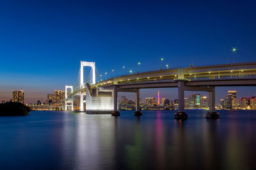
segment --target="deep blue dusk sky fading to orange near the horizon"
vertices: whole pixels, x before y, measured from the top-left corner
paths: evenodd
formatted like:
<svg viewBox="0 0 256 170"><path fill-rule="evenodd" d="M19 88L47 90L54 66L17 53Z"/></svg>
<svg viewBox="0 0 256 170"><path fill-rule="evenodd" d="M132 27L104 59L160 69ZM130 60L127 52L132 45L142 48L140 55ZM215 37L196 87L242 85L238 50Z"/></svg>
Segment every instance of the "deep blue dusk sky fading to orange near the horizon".
<svg viewBox="0 0 256 170"><path fill-rule="evenodd" d="M100 73L122 66L156 70L193 64L256 61L255 1L1 1L0 100L24 89L26 102L74 85L79 61L95 61ZM90 72L90 70L86 70ZM228 89L238 97L255 87L216 88L216 102ZM141 90L141 98L158 89ZM177 89L159 89L177 98ZM192 92L186 92L186 95ZM202 93L207 94L207 93ZM123 95L122 93L120 95ZM128 97L134 95L125 93Z"/></svg>

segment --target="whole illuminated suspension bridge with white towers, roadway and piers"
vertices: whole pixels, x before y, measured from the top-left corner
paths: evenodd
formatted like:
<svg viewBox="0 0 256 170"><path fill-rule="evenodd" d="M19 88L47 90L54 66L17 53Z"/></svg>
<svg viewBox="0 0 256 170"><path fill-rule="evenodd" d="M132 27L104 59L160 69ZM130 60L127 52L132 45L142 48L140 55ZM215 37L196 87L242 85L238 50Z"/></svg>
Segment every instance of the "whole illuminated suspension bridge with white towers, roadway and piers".
<svg viewBox="0 0 256 170"><path fill-rule="evenodd" d="M84 70L85 66L91 67L89 76ZM96 72L99 82L96 82ZM84 82L84 75L86 75L86 82ZM89 79L89 77L92 78ZM66 110L68 106L74 110L74 100L79 98L79 111L87 114L119 116L118 92L131 92L136 93L134 116L141 116L140 89L178 88L179 109L175 113L175 118L188 118L184 111L184 91L209 92L209 112L206 118L219 118L219 114L215 111L215 87L256 86L256 62L168 68L130 73L102 80L95 62L81 61L77 82L75 86L65 86Z"/></svg>

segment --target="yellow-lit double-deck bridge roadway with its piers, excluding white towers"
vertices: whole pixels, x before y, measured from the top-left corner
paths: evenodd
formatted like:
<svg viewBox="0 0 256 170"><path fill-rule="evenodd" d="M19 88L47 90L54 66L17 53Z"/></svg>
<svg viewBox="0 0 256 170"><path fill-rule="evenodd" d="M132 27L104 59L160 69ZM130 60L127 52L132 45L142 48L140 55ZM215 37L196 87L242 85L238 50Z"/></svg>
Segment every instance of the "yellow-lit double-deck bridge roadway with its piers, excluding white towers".
<svg viewBox="0 0 256 170"><path fill-rule="evenodd" d="M224 65L190 66L186 68L171 68L151 72L133 73L108 80L97 82L90 86L92 90L113 91L113 115L118 116L117 93L120 91L136 93L136 112L140 112L141 88L178 88L179 109L175 118L186 119L184 112L184 91L208 91L209 114L208 118L218 118L215 112L216 86L256 86L256 62L232 63ZM84 88L74 91L73 95L83 93Z"/></svg>

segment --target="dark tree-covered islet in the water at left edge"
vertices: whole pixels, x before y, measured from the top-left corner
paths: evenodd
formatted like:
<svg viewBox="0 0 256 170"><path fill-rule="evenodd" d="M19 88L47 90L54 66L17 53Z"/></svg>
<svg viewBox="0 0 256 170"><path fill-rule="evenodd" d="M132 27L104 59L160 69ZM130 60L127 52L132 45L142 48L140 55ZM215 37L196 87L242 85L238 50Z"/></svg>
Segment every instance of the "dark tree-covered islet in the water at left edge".
<svg viewBox="0 0 256 170"><path fill-rule="evenodd" d="M30 107L19 102L6 102L0 104L0 116L26 116Z"/></svg>

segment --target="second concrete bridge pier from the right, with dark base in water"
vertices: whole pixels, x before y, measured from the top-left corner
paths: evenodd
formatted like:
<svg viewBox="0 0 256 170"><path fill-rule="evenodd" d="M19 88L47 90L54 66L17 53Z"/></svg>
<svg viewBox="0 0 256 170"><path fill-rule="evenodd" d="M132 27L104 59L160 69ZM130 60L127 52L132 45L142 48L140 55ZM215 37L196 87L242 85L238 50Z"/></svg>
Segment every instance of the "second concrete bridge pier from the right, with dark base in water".
<svg viewBox="0 0 256 170"><path fill-rule="evenodd" d="M179 102L179 108L178 112L175 113L174 118L177 120L186 120L188 119L188 114L186 114L184 109L184 81L178 82L178 102Z"/></svg>

